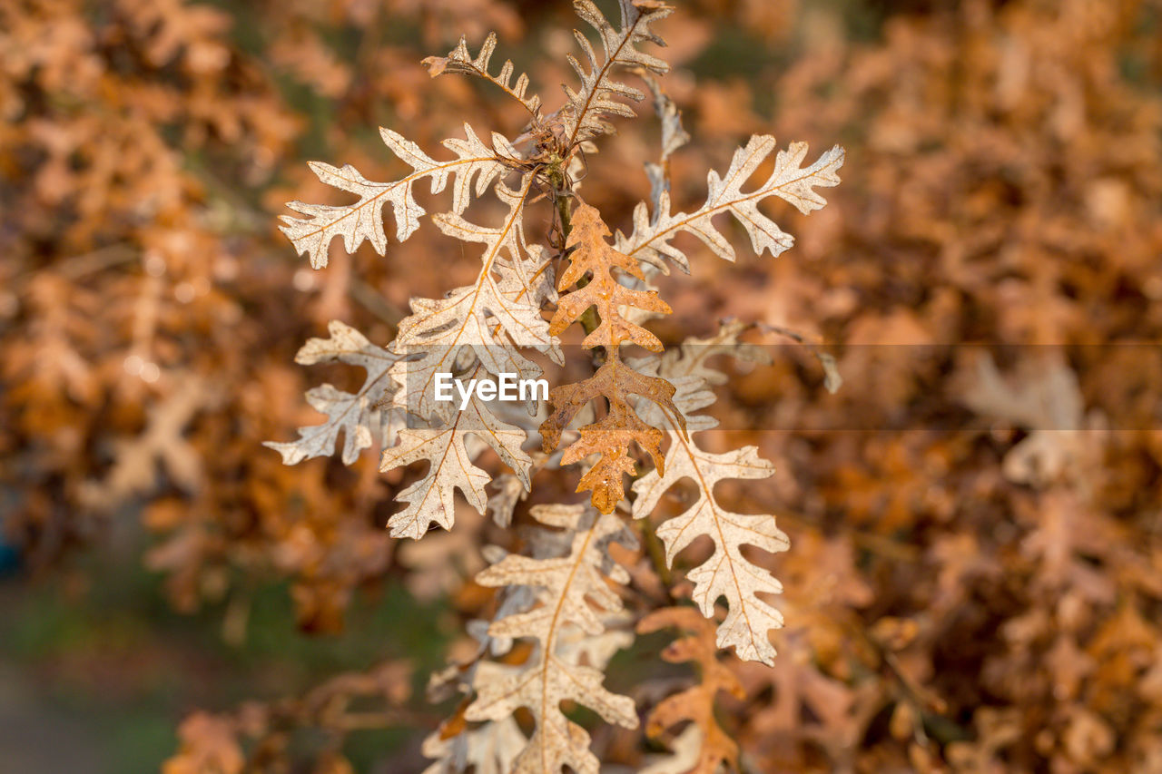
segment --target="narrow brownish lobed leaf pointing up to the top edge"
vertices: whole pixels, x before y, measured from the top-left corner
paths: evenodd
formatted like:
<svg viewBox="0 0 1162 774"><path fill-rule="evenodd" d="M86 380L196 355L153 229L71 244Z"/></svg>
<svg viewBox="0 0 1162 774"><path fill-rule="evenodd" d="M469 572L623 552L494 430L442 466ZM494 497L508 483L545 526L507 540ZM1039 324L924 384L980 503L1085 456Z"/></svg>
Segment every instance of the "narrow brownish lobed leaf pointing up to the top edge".
<svg viewBox="0 0 1162 774"><path fill-rule="evenodd" d="M569 64L581 79L579 91L565 87L568 101L559 112L571 146L598 135L612 134L614 127L605 119L608 115L626 117L636 115L617 98L638 102L645 95L631 86L614 80L615 67L641 67L657 73L669 70L669 65L662 59L639 51L636 46L644 42L665 45L662 40L650 30L650 24L665 19L674 9L654 0L618 0L618 6L622 14L621 29L614 28L591 0L573 0L578 16L597 30L604 57L598 58L584 35L574 30L573 35L581 45L581 52L589 69L586 71L584 65L569 56Z"/></svg>

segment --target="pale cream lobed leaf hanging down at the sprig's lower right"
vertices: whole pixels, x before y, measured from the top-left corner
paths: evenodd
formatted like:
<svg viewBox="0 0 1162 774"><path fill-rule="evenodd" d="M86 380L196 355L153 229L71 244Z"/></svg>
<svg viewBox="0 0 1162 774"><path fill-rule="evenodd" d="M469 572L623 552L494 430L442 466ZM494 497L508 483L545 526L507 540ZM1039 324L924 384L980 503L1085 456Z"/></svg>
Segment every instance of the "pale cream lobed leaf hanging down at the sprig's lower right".
<svg viewBox="0 0 1162 774"><path fill-rule="evenodd" d="M724 328L709 339L694 339L683 345L686 357L652 358L658 373L677 385L674 402L689 424L689 432L709 430L717 421L691 414L713 402L708 384L722 379L720 372L706 366L710 354L737 344L741 325ZM788 547L787 536L775 526L768 514L736 514L724 508L715 496L715 485L727 479L765 479L774 467L759 457L755 446L744 446L725 454L703 451L668 414L650 407L647 421L666 423L670 444L665 468L651 471L633 483L637 499L633 516L647 517L672 486L682 479L697 487L694 502L680 515L658 528L666 545L670 565L680 551L705 535L715 543L706 561L691 569L687 578L694 583L694 601L706 617L715 615L715 603L726 599L726 618L718 626L718 646L733 646L741 659L773 664L775 648L767 632L783 625L783 617L759 594L779 594L782 585L762 567L743 556L743 545L779 552Z"/></svg>

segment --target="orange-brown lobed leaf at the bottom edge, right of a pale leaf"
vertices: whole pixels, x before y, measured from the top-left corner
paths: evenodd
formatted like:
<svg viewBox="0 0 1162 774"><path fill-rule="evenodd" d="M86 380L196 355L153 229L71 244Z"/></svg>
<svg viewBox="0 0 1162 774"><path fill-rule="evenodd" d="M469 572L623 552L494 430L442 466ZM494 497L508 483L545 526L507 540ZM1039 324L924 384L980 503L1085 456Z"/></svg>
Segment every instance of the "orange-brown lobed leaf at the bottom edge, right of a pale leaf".
<svg viewBox="0 0 1162 774"><path fill-rule="evenodd" d="M715 696L719 690L725 690L736 698L743 698L745 693L734 673L718 661L715 625L693 608L664 608L639 621L638 633L646 635L667 626L675 626L689 635L662 651L662 659L670 664L697 662L698 681L654 707L646 722L646 736L657 739L667 729L691 721L689 728L697 729L700 733L696 739L683 733L675 740L675 758L683 760L684 765L674 766L669 771L675 774L716 774L723 764L727 771L736 771L738 745L715 718Z"/></svg>

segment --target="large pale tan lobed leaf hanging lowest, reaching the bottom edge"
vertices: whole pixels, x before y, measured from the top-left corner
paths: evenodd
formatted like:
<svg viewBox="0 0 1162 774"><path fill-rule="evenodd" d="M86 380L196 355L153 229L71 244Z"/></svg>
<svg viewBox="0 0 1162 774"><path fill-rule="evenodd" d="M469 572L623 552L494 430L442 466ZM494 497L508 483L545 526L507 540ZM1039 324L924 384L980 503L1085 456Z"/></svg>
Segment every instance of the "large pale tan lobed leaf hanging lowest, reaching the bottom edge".
<svg viewBox="0 0 1162 774"><path fill-rule="evenodd" d="M479 665L476 697L465 718L498 722L523 707L532 714L536 731L516 757L512 772L545 774L568 766L579 774L596 774L598 761L589 751L589 734L565 716L561 702L574 701L609 723L637 728L633 701L601 685L605 662L624 644L618 632L607 631L609 618L622 611L621 597L609 581L629 581L625 568L609 556L609 545L633 547L637 542L617 516L584 506L537 506L531 513L544 524L567 530L567 554L510 554L476 576L482 586L533 589L535 607L498 618L488 633L531 639L535 647L519 665Z"/></svg>

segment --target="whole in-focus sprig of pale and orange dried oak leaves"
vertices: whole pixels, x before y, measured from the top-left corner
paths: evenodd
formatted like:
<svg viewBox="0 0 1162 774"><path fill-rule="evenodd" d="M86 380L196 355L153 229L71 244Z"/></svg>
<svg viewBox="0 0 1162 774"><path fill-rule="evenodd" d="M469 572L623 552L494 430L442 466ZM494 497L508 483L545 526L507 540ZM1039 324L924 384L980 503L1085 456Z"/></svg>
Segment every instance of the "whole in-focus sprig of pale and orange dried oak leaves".
<svg viewBox="0 0 1162 774"><path fill-rule="evenodd" d="M576 59L569 58L581 79L581 87L566 87L567 101L557 113L547 117L541 115L541 101L538 96L528 95L525 77L522 76L515 86L509 85L511 63L505 63L500 76L489 74L488 65L496 46L494 36L489 36L475 59L471 58L467 44L461 40L447 57L425 60L430 74L466 73L500 86L529 113L519 138L514 143L494 131L489 150L466 126L466 142L444 142L457 158L436 162L418 145L383 129L383 141L413 167L413 174L390 184L374 184L351 166L336 170L315 163L311 167L323 182L357 195L358 201L338 207L292 202L290 208L306 217L285 217L282 227L300 253L310 257L315 268L327 265L327 253L337 236L343 237L347 252L367 239L376 252L385 255L387 239L382 228L382 205L392 202L397 223L396 236L403 242L417 230L418 217L425 214L413 195L413 184L419 178L431 178L431 191L437 194L446 187L449 175L456 174L452 210L432 220L447 236L485 245L482 267L475 281L450 291L439 300L413 299L411 315L400 322L396 337L387 350L375 353L374 366L368 363L371 356L366 339L354 338L353 332L345 334L345 338L351 339L350 344L313 342L297 358L313 363L320 359L316 352L325 351L332 358L340 357L350 364L363 365L367 379L357 395L342 394L342 403L327 392L333 388L322 388L328 399L321 397L318 392L310 394L313 406L324 410L331 420L321 429L300 431L303 440L297 444L271 444L284 453L285 461L294 464L316 450L325 449L325 444L333 446L333 436L340 428L347 433L345 456L353 457L359 449L373 443L368 428L372 418L383 424L379 414L368 418L368 411L390 406L393 411L406 416L410 427L400 430L397 443L393 443L388 433L380 432L383 438L380 470L390 471L426 461L428 472L396 495L396 500L407 507L388 521L393 537L419 539L432 523L452 529L456 489L483 514L488 503L486 485L490 475L474 459L486 447L496 452L525 490L531 486L532 458L522 450L528 430L531 430L529 423L519 417L515 417L519 424L501 420L497 409L488 406L490 401L479 392L465 394L459 411L454 410L451 401L442 406L438 393L442 378L459 378L475 384L485 379L500 382L505 374L518 379L539 375L540 368L521 350L532 349L560 361L558 337L574 322L579 322L586 331L581 342L584 350L601 347L600 354L594 358L597 367L593 375L552 388L548 415L539 427L544 452L552 453L579 413L596 399L602 399L604 413L581 427L576 440L560 457L561 465L569 465L596 456L596 460L587 463L578 492L591 490L590 501L600 517L584 516L586 511L580 506L535 507L531 510L533 518L575 533L568 553L560 558L533 559L510 556L475 579L486 587L533 589L530 602L536 607L494 621L488 636L504 638L505 642L533 639L536 643L532 654L519 667L501 668L486 662L472 668L472 680L466 689L472 691L474 700L462 710L462 719L458 722L502 723L517 709L525 708L531 711L536 729L523 748L511 754L510 751L492 752L481 758L472 747L490 746L496 741L492 736L478 737L475 733L465 736L459 748L437 743L430 747L435 754L454 755L462 764L503 759L511 761L514 771L524 772L558 772L562 767L578 772L597 771L600 761L589 752L589 734L566 718L560 707L562 701L587 705L610 723L637 726L630 700L615 696L601 687L603 664L561 660L558 655L566 623L580 628L587 638L600 642L604 625L590 605L596 605L607 616L622 609L617 595L605 586L594 567L601 566L619 582L629 580L626 571L614 564L603 550L615 533L632 538L625 532L619 517L615 516L618 503L625 497L623 476L638 476L634 460L630 457L631 444L645 451L654 466L634 485L640 486L634 501L639 517L648 515L661 494L677 479L689 475L701 482L703 502L660 531L667 543L667 561L673 564L675 554L696 537L713 535L722 557L712 556L688 574L695 585L694 600L704 616L713 617L715 602L725 596L729 614L719 628L718 645L734 646L744 659L773 661L774 648L768 631L781 626L782 618L756 595L777 593L781 587L765 569L743 557L740 545L749 543L768 551L781 551L787 547L787 538L774 526L772 516L733 514L722 508L712 493L713 486L724 478L762 478L770 474L770 468L758 460L754 447L722 456L706 454L690 445L687 416L712 402L712 396L709 401L703 396L704 382L717 374L706 371L697 356L683 358L679 365L674 365L674 359L667 359L667 365L674 365L674 373L660 368L657 363L646 366L652 366L653 373L644 373L625 363L623 344L652 352L661 352L664 346L654 334L626 316L631 311L623 313L623 309L632 310L632 315L643 321L650 315L672 311L658 293L647 287L645 270L651 266L650 261L643 261L665 251L688 271L684 256L667 244L670 236L679 231L693 231L708 244L717 245L719 255L733 258L726 238L711 225L711 218L718 213L734 214L749 234L756 252L761 253L767 248L775 255L781 252L789 246L790 237L759 213L758 202L777 194L794 202L803 213L817 209L824 201L813 187L835 185L839 178L834 169L842 163L842 151L837 146L808 170L801 170L806 146L797 143L789 152L780 152L775 170L765 185L744 194L741 185L759 169L774 145L772 137L754 137L736 153L725 181L710 174L706 205L693 215L670 216L668 193L664 186L657 188L657 217L653 223L644 220L645 205L638 208L636 220L639 228L631 241L637 239L632 251L641 252L641 258L615 249L605 242L610 231L601 213L582 201L575 208L571 205L571 199L579 199L578 180L571 171L579 155L589 148L588 141L614 131L608 116L634 115L615 98L644 99L637 89L615 80L619 77L618 71L631 67L638 72L662 73L667 70L664 62L634 46L644 41L661 44L661 38L650 31L650 24L667 16L672 9L659 2L622 0L622 23L617 29L588 0L579 0L574 7L597 30L604 57L598 57L586 37L576 34L589 66L587 70ZM655 94L655 106L668 127L668 157L677 145L674 138L681 134L674 128L676 113L667 109L669 103L664 92L652 77L647 78ZM516 180L515 186L510 187L505 178ZM500 224L489 228L467 221L465 213L472 199L483 196L493 184L496 198L507 208ZM550 265L553 257L551 249L531 242L526 236L525 210L535 203L535 191L540 194L537 199L554 205L553 231L546 234L545 239L552 246L554 234L564 237L564 244L557 242L557 245L568 264L555 278ZM632 286L634 282L638 287ZM553 302L557 309L546 323L541 309ZM345 330L337 325L342 324L332 323L332 337ZM696 342L691 346L713 346L708 353L729 350L729 343L737 343L739 330L734 327L718 339ZM732 334L736 335L733 338ZM332 354L336 349L354 354L345 358ZM385 384L385 374L389 384ZM695 394L686 395L682 406L675 403L676 377L687 377L689 382L694 382ZM659 413L652 423L643 421L639 415L639 410L648 409L637 409L631 404L639 399L650 401ZM356 401L360 401L360 410L358 418L352 420L349 417ZM529 408L533 414L535 406L530 403ZM712 427L712 422L701 418L698 424L700 429ZM662 427L673 436L665 457L661 449L665 437ZM321 437L325 438L325 444L315 442ZM352 437L356 438L353 443ZM469 442L469 438L475 440ZM309 449L302 449L304 443ZM350 463L349 459L345 461ZM507 499L511 501L510 496ZM511 521L507 506L495 508L494 513L501 517L501 523ZM623 544L626 539L621 538ZM591 643L580 640L569 644L566 652L576 655L590 647ZM518 734L507 729L501 738L508 744ZM444 740L446 736L440 734L440 741Z"/></svg>

